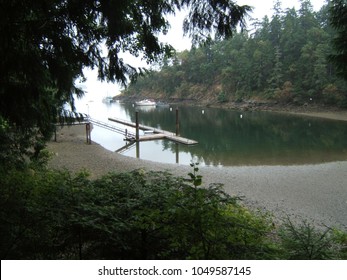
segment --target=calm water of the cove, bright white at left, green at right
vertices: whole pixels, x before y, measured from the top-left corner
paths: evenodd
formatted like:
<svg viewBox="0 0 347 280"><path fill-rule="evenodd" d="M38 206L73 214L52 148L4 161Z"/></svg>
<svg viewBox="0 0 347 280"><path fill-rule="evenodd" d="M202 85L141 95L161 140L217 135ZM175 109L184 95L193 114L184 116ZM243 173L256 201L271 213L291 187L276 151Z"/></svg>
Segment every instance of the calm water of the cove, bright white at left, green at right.
<svg viewBox="0 0 347 280"><path fill-rule="evenodd" d="M175 109L133 107L132 104L80 102L78 110L107 121L117 117L175 131ZM180 134L196 146L159 140L141 142L122 152L165 163L202 165L306 164L347 160L347 123L269 112L179 107ZM122 125L109 122L121 128ZM129 129L131 130L131 129ZM126 143L122 135L94 126L92 140L116 151Z"/></svg>

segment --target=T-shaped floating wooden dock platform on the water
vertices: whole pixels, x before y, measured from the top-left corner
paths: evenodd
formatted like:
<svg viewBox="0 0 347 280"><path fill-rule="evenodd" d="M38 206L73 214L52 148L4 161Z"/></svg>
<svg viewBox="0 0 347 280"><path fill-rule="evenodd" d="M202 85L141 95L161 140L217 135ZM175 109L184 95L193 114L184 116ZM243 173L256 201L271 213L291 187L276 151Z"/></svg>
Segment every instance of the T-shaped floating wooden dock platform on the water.
<svg viewBox="0 0 347 280"><path fill-rule="evenodd" d="M120 123L120 124L123 124L123 125L126 125L126 126L130 126L130 127L133 127L133 128L137 127L136 123L129 122L129 121L122 120L122 119L118 119L118 118L108 118L108 120L112 121L112 122ZM158 139L168 139L170 141L173 141L173 142L176 142L176 143L180 143L180 144L184 144L184 145L196 145L196 144L198 144L198 142L195 141L195 140L191 140L191 139L188 139L188 138L177 136L175 133L173 133L171 131L166 131L166 130L162 130L162 129L158 129L158 128L155 128L155 127L142 125L142 124L138 124L138 128L140 130L143 130L143 131L151 131L151 134L146 134L146 135L139 136L138 141L150 141L150 140L158 140Z"/></svg>

